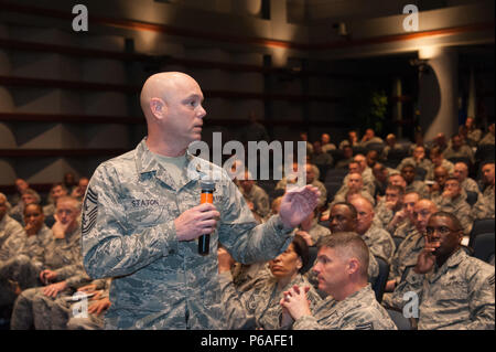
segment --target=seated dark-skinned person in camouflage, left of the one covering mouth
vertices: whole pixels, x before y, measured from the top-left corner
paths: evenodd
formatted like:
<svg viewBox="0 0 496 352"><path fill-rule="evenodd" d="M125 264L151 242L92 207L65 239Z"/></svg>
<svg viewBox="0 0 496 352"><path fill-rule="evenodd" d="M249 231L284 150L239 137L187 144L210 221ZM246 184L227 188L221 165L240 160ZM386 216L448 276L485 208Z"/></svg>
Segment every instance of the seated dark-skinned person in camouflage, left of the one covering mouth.
<svg viewBox="0 0 496 352"><path fill-rule="evenodd" d="M12 305L21 290L37 286L36 273L52 239L40 204L25 206L24 223L24 231L12 234L0 247L0 306Z"/></svg>

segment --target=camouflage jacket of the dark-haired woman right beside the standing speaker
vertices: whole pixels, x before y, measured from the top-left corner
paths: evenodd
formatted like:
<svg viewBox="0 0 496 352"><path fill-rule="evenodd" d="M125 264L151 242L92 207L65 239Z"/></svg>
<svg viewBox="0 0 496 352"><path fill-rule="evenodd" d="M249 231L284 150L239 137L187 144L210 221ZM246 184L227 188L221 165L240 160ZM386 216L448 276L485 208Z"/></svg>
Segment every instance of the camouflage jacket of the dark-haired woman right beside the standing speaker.
<svg viewBox="0 0 496 352"><path fill-rule="evenodd" d="M265 276L245 292L236 290L230 273L223 273L218 277L228 329L279 329L282 314L279 302L282 292L294 285L310 287L306 297L310 299L312 308L321 300L319 294L300 274L282 289L278 289L278 281L272 275Z"/></svg>

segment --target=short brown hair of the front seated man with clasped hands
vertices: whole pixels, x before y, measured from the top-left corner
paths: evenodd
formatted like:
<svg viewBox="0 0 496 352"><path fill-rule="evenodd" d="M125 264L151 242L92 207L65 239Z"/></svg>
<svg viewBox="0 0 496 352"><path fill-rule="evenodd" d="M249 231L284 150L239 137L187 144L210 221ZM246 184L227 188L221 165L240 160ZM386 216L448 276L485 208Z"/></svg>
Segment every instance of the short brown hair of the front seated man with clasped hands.
<svg viewBox="0 0 496 352"><path fill-rule="evenodd" d="M360 264L360 276L365 279L368 278L370 254L367 244L360 235L355 232L337 232L326 236L319 246L319 248L322 247L336 249L344 260L356 258Z"/></svg>

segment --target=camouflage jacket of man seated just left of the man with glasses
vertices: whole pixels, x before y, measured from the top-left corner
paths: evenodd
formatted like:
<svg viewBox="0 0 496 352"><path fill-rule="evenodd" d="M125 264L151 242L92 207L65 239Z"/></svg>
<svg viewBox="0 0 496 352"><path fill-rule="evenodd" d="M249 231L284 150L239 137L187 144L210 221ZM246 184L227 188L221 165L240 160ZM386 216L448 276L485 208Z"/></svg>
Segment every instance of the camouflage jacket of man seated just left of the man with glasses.
<svg viewBox="0 0 496 352"><path fill-rule="evenodd" d="M405 270L408 267L416 266L417 258L424 247L423 235L414 228L401 244L398 246L391 258L389 268L389 280L395 279L399 284Z"/></svg>

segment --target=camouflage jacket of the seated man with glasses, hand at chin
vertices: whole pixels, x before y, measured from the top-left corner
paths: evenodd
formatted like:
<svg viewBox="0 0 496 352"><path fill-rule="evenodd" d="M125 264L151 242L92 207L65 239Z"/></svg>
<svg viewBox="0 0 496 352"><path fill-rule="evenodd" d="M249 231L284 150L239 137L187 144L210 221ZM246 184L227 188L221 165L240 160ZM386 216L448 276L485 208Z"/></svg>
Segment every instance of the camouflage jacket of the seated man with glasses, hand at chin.
<svg viewBox="0 0 496 352"><path fill-rule="evenodd" d="M425 275L411 270L393 292L395 305L405 303L408 291L419 297L419 330L495 328L494 267L463 249Z"/></svg>

